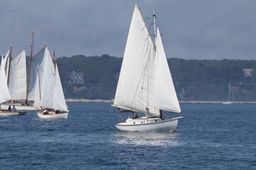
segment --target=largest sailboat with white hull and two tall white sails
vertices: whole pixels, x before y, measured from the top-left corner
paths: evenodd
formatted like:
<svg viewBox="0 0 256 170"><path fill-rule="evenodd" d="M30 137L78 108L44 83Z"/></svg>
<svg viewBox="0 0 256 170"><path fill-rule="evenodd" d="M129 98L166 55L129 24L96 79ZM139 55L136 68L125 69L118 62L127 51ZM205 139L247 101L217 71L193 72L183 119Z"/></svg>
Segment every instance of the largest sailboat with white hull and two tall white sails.
<svg viewBox="0 0 256 170"><path fill-rule="evenodd" d="M145 114L116 124L123 131L175 131L183 117L163 118L163 111L181 112L166 60L154 10L153 42L138 4L135 4L114 107L120 113Z"/></svg>

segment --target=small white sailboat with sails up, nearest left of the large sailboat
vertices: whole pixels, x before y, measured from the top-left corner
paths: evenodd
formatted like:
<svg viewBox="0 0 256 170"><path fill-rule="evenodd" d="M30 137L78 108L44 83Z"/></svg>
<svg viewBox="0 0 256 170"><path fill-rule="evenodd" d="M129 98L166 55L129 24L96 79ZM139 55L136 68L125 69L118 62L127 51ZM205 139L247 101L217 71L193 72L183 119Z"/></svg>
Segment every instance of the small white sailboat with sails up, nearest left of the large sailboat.
<svg viewBox="0 0 256 170"><path fill-rule="evenodd" d="M67 119L68 109L61 86L57 63L52 62L47 46L39 52L38 56L35 56L36 61L40 61L40 56L44 56L41 58L41 63L44 63L44 67L41 68L39 65L34 67L37 68L35 72L34 107L41 110L37 112L37 116L43 119ZM45 111L43 111L44 109Z"/></svg>

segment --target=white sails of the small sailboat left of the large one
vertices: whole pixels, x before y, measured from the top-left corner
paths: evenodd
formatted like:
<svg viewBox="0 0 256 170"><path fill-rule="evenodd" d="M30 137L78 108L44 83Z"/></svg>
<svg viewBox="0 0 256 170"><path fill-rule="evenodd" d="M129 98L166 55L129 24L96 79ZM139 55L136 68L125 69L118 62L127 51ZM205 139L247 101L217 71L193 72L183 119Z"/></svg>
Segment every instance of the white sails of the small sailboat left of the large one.
<svg viewBox="0 0 256 170"><path fill-rule="evenodd" d="M33 73L32 78L33 80L35 75L35 82L33 84L34 107L37 109L44 107L58 109L60 111L68 111L57 64L56 68L54 68L54 63L52 62L51 54L47 47L41 50L38 54L38 58L36 58L33 65L33 70L37 68L37 71L36 75ZM40 61L38 62L38 65L35 65L36 61Z"/></svg>

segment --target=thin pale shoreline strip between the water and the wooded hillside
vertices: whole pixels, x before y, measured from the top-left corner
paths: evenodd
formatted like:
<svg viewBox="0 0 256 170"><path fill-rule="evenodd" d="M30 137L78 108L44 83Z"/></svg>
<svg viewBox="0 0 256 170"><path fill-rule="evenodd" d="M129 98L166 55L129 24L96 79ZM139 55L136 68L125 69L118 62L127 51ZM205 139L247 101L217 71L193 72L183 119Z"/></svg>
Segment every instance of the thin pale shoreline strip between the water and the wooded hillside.
<svg viewBox="0 0 256 170"><path fill-rule="evenodd" d="M86 98L67 98L66 102L93 102L93 103L113 103L114 99L109 99L109 100L102 100L102 99L95 99L95 100L90 100ZM179 101L181 104L221 104L224 101ZM234 102L235 104L256 104L256 102Z"/></svg>

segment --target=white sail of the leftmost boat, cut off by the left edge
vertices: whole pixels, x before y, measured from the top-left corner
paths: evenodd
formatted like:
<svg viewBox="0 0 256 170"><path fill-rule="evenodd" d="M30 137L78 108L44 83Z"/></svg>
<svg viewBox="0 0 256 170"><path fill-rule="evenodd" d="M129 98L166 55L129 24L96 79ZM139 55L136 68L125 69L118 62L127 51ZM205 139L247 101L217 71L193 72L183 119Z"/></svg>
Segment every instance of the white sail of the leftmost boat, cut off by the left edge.
<svg viewBox="0 0 256 170"><path fill-rule="evenodd" d="M0 104L6 101L11 100L11 96L8 90L7 86L7 79L6 79L6 72L5 72L5 66L6 66L6 61L9 56L9 51L6 54L6 57L4 58L2 54L2 59L1 59L1 68L0 68Z"/></svg>

